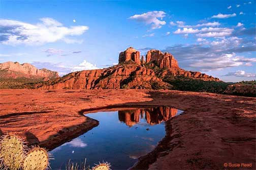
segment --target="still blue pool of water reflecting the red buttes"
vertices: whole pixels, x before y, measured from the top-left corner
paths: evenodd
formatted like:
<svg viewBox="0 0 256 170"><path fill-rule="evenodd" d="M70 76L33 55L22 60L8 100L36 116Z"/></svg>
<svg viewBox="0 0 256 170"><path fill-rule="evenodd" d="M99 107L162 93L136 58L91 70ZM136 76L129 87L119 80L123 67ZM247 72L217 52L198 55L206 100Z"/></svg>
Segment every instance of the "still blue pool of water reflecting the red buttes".
<svg viewBox="0 0 256 170"><path fill-rule="evenodd" d="M162 106L88 113L86 116L97 119L100 124L53 149L51 167L65 169L70 159L80 165L86 158L86 165L90 167L104 160L111 163L111 169L128 169L165 137L165 121L181 112Z"/></svg>

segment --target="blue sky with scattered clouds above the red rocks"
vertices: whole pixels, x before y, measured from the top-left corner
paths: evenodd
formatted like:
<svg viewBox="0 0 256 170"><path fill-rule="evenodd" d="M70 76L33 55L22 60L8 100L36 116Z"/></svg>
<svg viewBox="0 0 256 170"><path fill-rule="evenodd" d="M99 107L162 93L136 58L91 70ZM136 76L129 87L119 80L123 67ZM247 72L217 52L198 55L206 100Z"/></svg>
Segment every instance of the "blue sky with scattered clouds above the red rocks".
<svg viewBox="0 0 256 170"><path fill-rule="evenodd" d="M61 75L116 64L132 46L186 70L255 79L254 1L0 1L0 62Z"/></svg>

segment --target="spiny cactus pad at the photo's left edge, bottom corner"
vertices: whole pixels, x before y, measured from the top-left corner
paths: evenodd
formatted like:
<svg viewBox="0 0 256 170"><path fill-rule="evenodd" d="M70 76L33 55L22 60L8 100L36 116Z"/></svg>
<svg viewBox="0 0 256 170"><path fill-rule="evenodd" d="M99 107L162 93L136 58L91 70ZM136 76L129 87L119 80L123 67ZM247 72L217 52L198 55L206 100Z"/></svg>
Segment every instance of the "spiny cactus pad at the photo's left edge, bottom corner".
<svg viewBox="0 0 256 170"><path fill-rule="evenodd" d="M23 141L16 135L6 135L0 141L0 159L9 169L19 169L24 159Z"/></svg>

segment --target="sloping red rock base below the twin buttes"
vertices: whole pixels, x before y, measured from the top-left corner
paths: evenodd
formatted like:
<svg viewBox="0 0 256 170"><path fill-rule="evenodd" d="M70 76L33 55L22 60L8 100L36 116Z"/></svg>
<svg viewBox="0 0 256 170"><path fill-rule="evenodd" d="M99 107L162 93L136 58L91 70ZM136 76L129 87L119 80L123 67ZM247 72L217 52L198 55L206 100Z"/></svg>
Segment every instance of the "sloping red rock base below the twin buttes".
<svg viewBox="0 0 256 170"><path fill-rule="evenodd" d="M158 84L168 89L170 84L155 76L151 69L137 64L116 65L107 69L72 72L35 84L39 89L152 89Z"/></svg>

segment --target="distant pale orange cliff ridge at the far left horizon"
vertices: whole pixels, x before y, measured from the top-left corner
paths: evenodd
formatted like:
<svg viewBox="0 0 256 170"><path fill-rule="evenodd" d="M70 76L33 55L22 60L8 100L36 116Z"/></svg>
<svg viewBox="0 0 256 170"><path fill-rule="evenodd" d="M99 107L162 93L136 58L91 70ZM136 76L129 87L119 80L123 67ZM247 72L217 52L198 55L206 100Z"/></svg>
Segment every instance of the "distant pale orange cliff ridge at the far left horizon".
<svg viewBox="0 0 256 170"><path fill-rule="evenodd" d="M0 78L31 78L31 79L53 79L57 78L58 73L55 71L43 69L37 69L35 66L24 63L19 64L18 62L5 62L0 63Z"/></svg>

